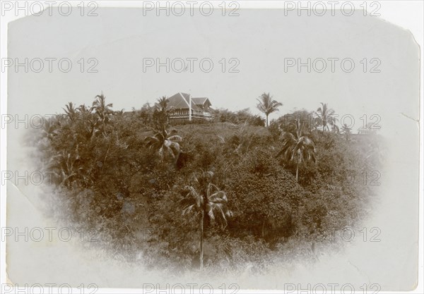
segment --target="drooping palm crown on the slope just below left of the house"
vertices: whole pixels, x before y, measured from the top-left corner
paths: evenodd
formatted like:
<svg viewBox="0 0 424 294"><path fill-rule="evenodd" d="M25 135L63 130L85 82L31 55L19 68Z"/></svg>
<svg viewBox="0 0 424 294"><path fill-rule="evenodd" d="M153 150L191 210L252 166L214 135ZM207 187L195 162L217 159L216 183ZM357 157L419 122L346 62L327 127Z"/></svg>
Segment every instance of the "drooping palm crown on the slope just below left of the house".
<svg viewBox="0 0 424 294"><path fill-rule="evenodd" d="M162 130L157 130L155 135L146 137L144 142L148 149L158 152L161 159L165 159L165 157L170 156L176 164L179 154L181 154L179 142L182 141L182 137L175 135L176 133L177 130L171 130L168 133L164 127Z"/></svg>

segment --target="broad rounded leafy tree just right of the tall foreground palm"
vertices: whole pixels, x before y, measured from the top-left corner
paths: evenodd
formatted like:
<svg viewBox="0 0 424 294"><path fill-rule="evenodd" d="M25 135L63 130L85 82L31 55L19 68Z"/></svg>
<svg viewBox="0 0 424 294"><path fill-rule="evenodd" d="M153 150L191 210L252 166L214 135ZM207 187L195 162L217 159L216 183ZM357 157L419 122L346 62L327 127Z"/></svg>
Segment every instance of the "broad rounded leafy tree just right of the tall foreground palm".
<svg viewBox="0 0 424 294"><path fill-rule="evenodd" d="M232 168L226 188L234 202L230 229L239 237L288 237L303 194L270 149L254 149Z"/></svg>

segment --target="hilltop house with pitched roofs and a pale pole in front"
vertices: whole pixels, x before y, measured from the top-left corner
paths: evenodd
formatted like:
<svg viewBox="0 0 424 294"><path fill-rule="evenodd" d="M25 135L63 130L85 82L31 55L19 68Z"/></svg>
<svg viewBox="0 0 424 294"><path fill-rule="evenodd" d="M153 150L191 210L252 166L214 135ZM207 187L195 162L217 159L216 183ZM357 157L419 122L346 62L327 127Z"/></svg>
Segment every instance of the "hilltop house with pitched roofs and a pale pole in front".
<svg viewBox="0 0 424 294"><path fill-rule="evenodd" d="M212 104L207 97L192 98L190 94L179 92L167 100L168 106L173 109L170 115L172 120L211 121L213 119Z"/></svg>

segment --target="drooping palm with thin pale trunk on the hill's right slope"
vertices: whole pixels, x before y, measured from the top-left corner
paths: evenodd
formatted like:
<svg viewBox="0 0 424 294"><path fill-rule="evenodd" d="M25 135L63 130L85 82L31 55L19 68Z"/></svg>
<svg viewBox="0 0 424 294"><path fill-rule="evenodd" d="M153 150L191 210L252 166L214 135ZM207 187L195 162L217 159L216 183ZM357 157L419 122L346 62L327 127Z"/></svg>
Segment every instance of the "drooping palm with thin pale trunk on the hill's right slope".
<svg viewBox="0 0 424 294"><path fill-rule="evenodd" d="M314 142L303 134L303 124L300 119L295 121L295 132L283 133L283 148L276 157L283 155L286 161L293 161L296 164L296 182L298 181L299 165L302 162L316 161Z"/></svg>

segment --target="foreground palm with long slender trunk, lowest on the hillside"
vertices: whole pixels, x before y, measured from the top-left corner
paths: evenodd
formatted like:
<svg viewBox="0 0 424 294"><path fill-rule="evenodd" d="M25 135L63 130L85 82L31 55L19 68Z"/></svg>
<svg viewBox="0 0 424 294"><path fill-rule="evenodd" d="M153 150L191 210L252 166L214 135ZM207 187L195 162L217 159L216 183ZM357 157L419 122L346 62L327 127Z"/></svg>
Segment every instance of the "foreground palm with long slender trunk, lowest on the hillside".
<svg viewBox="0 0 424 294"><path fill-rule="evenodd" d="M203 269L205 214L212 223L219 220L222 228L227 226L227 218L232 216L232 212L227 206L227 195L212 183L212 178L212 171L194 173L191 185L185 187L189 192L182 200L184 204L188 205L182 211L182 215L193 212L195 216L200 216L200 270Z"/></svg>

